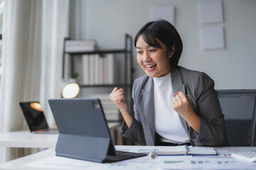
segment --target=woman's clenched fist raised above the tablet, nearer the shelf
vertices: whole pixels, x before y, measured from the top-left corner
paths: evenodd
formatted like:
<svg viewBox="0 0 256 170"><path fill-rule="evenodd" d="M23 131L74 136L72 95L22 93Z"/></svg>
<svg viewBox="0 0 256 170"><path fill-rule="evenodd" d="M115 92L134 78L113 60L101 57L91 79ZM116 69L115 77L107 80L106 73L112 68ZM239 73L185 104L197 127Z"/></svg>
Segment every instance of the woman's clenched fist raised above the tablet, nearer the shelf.
<svg viewBox="0 0 256 170"><path fill-rule="evenodd" d="M124 90L123 89L118 89L115 87L110 94L110 99L114 102L114 104L119 108L120 111L127 111L127 101L124 98Z"/></svg>

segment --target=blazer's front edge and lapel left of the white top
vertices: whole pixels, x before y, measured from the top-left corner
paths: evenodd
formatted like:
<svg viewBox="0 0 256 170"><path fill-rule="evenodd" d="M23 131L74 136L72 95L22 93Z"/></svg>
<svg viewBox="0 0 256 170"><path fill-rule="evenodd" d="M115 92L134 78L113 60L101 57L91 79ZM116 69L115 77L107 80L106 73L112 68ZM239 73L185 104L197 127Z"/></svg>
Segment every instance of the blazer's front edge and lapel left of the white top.
<svg viewBox="0 0 256 170"><path fill-rule="evenodd" d="M145 135L147 145L154 145L155 138L155 118L154 118L154 82L152 78L146 82L144 89L142 89L142 96L144 101L144 116L146 118L147 126L150 135ZM145 129L146 130L146 129ZM145 131L144 130L144 131Z"/></svg>

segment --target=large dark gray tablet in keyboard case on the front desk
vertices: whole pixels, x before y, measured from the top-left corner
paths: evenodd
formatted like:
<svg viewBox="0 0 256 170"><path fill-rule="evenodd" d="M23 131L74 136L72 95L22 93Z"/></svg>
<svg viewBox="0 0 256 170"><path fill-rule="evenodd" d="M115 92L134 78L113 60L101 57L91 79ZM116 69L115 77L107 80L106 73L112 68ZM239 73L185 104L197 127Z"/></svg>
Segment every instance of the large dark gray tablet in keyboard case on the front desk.
<svg viewBox="0 0 256 170"><path fill-rule="evenodd" d="M60 132L56 156L101 163L146 156L115 149L100 99L59 98L48 102Z"/></svg>

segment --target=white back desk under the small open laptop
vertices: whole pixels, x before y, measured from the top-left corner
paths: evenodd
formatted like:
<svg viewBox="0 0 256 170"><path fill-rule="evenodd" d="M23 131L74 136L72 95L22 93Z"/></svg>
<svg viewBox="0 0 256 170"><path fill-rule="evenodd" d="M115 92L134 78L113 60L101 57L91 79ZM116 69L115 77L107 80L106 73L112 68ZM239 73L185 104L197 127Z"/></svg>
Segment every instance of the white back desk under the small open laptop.
<svg viewBox="0 0 256 170"><path fill-rule="evenodd" d="M108 123L110 130L119 127L120 123ZM58 134L33 134L30 131L4 132L0 134L0 147L55 147Z"/></svg>

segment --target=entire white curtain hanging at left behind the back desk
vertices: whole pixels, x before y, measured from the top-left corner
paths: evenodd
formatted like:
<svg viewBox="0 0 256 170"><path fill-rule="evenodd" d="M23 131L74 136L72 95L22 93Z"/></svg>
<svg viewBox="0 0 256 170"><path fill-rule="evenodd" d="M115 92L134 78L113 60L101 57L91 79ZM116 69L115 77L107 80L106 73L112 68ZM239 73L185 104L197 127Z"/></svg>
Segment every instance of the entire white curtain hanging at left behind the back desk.
<svg viewBox="0 0 256 170"><path fill-rule="evenodd" d="M68 0L4 2L0 132L28 129L19 101L40 101L53 125L49 98L59 98ZM0 163L28 149L0 148ZM28 153L29 154L29 153Z"/></svg>

